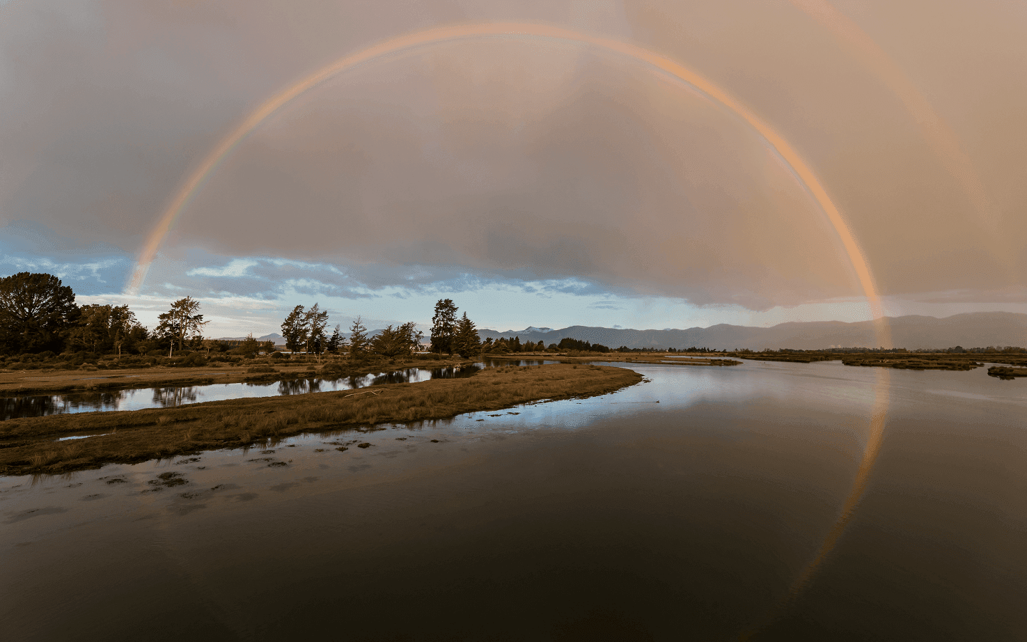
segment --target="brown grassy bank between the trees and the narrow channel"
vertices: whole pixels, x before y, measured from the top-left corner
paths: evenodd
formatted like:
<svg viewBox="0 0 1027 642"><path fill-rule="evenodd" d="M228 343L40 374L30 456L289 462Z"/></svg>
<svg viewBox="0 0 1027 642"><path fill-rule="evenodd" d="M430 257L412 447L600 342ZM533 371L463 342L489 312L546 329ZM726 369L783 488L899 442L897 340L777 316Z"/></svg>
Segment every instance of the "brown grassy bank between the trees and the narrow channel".
<svg viewBox="0 0 1027 642"><path fill-rule="evenodd" d="M168 364L145 368L92 368L91 370L88 367L85 370L48 368L0 372L0 395L54 394L243 381L269 382L311 376L358 377L405 368L445 368L464 363L470 363L470 361L458 356L417 354L406 358L327 357L319 362L313 357L307 360L238 360L237 362L215 362L202 367L183 367Z"/></svg>

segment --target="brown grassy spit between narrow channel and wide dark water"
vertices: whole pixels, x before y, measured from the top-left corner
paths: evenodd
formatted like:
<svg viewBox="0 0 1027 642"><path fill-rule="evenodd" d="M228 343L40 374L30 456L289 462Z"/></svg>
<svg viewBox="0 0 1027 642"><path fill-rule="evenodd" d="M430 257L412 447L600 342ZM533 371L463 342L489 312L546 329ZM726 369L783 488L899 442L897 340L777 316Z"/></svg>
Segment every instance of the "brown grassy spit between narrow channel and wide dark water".
<svg viewBox="0 0 1027 642"><path fill-rule="evenodd" d="M465 379L355 391L10 419L0 422L0 475L65 473L250 446L305 431L444 419L540 400L606 394L641 380L631 370L602 366L505 367ZM55 441L82 432L98 436Z"/></svg>

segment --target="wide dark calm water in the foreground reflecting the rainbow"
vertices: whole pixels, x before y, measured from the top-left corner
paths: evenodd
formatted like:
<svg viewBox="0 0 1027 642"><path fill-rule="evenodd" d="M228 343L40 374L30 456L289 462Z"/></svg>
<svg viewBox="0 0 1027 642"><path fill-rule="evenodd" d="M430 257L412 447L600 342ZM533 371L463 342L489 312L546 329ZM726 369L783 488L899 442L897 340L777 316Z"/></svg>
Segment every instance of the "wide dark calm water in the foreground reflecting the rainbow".
<svg viewBox="0 0 1027 642"><path fill-rule="evenodd" d="M585 401L0 478L0 635L1025 639L1027 382L634 368Z"/></svg>

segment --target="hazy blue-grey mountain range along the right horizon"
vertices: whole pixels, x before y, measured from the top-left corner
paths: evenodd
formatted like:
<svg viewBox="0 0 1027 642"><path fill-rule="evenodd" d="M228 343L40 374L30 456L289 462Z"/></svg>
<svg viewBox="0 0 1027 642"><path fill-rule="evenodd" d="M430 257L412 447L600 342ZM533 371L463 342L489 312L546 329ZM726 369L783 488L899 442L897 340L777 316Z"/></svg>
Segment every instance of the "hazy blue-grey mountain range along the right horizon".
<svg viewBox="0 0 1027 642"><path fill-rule="evenodd" d="M1027 346L1027 314L1017 312L967 312L944 318L907 315L887 318L896 347L920 348L986 347L989 345ZM544 330L544 332L542 331ZM873 322L789 322L771 328L719 324L687 330L630 330L571 326L561 330L526 328L525 330L479 330L482 339L521 337L521 341L559 343L571 337L611 348L687 348L711 349L792 348L816 350L839 347L878 347Z"/></svg>

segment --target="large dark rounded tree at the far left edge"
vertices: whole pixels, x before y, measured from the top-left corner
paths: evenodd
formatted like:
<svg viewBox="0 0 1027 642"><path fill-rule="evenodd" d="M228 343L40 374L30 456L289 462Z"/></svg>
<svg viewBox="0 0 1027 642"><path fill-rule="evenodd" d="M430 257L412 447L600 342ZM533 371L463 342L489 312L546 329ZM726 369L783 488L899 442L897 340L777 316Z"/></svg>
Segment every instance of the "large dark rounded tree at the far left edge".
<svg viewBox="0 0 1027 642"><path fill-rule="evenodd" d="M0 351L60 351L78 317L75 293L52 274L0 278Z"/></svg>

